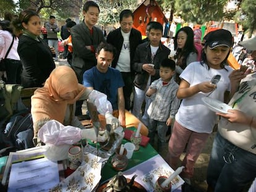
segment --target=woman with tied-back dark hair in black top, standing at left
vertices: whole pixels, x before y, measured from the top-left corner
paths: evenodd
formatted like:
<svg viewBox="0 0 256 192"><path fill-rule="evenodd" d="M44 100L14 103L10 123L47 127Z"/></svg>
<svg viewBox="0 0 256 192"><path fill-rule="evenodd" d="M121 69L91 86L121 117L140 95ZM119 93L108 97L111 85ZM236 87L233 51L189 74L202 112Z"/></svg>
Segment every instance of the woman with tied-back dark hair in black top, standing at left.
<svg viewBox="0 0 256 192"><path fill-rule="evenodd" d="M12 24L16 30L23 30L18 46L23 66L21 85L26 88L41 87L55 64L52 55L54 49L50 49L40 38L40 17L33 10L23 10Z"/></svg>

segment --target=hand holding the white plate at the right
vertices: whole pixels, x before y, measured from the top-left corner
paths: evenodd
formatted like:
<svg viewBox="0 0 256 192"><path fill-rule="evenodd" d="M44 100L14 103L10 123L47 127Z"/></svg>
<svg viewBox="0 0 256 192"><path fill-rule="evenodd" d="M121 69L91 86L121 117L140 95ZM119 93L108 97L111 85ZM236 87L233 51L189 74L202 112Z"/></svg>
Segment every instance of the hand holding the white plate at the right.
<svg viewBox="0 0 256 192"><path fill-rule="evenodd" d="M245 114L244 112L238 111L236 109L229 109L228 112L229 114L221 114L221 113L216 113L216 114L228 119L228 121L231 123L242 123L245 125L250 124L250 120L252 119L252 117Z"/></svg>

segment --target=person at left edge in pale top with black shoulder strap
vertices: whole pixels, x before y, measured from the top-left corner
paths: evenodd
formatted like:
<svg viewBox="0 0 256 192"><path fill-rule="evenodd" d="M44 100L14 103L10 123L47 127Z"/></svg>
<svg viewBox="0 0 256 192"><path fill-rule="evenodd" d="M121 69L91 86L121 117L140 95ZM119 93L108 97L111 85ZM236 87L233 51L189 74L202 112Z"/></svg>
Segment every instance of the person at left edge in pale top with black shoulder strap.
<svg viewBox="0 0 256 192"><path fill-rule="evenodd" d="M0 79L3 78L7 84L20 84L22 64L17 52L19 33L14 33L9 20L2 20L0 26L0 58L4 59L4 64L0 65Z"/></svg>

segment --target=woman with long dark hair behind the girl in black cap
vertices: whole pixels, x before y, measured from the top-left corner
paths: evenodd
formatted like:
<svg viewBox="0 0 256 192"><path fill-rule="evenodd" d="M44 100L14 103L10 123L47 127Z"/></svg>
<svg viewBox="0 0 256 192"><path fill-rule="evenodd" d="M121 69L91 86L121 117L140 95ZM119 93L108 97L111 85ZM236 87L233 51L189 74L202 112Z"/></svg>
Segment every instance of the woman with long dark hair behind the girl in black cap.
<svg viewBox="0 0 256 192"><path fill-rule="evenodd" d="M180 83L179 75L191 62L197 61L197 49L194 46L194 32L190 27L182 27L174 38L174 50L176 50L176 81Z"/></svg>

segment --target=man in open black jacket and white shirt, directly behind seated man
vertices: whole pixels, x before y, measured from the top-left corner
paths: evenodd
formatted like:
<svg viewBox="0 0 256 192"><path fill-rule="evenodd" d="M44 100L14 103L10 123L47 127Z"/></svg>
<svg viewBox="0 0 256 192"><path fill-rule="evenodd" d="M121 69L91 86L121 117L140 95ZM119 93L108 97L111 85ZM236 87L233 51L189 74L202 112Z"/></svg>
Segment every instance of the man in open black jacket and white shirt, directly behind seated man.
<svg viewBox="0 0 256 192"><path fill-rule="evenodd" d="M142 43L140 31L132 28L134 23L134 14L131 10L122 10L119 15L120 28L111 31L107 37L107 42L113 44L117 49L111 67L116 68L122 74L124 80L124 100L125 108L130 110L130 94L133 89L134 71L132 70L132 61L137 46Z"/></svg>

